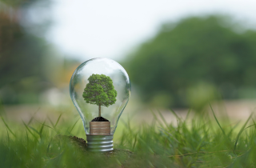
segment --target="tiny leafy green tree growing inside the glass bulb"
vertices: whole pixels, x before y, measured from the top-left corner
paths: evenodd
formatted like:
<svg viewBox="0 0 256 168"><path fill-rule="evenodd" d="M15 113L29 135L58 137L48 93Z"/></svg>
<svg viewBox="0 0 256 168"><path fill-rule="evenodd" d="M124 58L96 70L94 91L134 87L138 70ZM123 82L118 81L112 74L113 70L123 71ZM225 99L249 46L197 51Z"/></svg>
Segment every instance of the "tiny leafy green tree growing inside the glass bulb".
<svg viewBox="0 0 256 168"><path fill-rule="evenodd" d="M113 105L118 92L114 90L113 81L104 74L92 74L82 94L87 103L98 105L98 117L101 117L101 106Z"/></svg>

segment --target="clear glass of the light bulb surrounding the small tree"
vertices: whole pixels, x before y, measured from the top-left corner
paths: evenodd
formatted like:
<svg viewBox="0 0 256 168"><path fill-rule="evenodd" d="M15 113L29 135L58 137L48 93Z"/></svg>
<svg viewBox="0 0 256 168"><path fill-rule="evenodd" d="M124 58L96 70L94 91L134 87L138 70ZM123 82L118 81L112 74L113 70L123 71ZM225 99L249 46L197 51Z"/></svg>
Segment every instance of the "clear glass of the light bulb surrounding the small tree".
<svg viewBox="0 0 256 168"><path fill-rule="evenodd" d="M86 134L90 134L90 121L98 117L98 106L86 103L82 97L86 84L89 83L88 78L92 74L105 74L109 76L113 81L114 90L118 92L117 101L113 105L108 107L101 106L102 117L110 121L110 134L114 134L118 126L118 119L130 98L129 76L118 62L108 58L90 59L83 62L74 71L70 79L70 97L82 118Z"/></svg>

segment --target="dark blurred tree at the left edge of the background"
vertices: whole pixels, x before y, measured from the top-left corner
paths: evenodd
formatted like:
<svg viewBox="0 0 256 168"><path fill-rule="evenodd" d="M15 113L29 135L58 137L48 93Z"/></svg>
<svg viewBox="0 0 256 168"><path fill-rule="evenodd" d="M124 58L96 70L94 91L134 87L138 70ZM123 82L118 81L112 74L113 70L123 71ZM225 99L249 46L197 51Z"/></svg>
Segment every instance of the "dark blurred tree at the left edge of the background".
<svg viewBox="0 0 256 168"><path fill-rule="evenodd" d="M38 103L39 94L54 86L58 58L42 38L42 26L48 24L36 25L28 18L31 6L39 2L0 0L0 98L4 104ZM40 19L40 12L35 14Z"/></svg>

